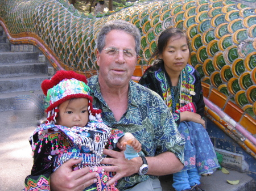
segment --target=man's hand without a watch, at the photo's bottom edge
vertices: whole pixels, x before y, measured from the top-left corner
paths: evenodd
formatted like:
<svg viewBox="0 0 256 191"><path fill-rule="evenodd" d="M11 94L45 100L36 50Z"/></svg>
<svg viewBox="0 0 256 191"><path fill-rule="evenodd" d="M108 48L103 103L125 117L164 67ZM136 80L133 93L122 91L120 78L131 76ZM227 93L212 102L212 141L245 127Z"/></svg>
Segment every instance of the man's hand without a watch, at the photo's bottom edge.
<svg viewBox="0 0 256 191"><path fill-rule="evenodd" d="M89 172L90 167L72 171L72 166L82 161L70 159L61 165L55 172L51 174L51 190L52 191L82 191L86 187L96 182L98 173Z"/></svg>

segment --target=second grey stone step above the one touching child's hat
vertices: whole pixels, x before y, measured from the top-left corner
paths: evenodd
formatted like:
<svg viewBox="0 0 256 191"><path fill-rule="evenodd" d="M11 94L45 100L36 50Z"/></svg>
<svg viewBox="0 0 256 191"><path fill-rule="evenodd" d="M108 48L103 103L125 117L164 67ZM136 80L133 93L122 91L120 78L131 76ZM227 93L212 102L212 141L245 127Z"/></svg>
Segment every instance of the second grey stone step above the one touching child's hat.
<svg viewBox="0 0 256 191"><path fill-rule="evenodd" d="M0 65L38 62L38 52L0 52Z"/></svg>

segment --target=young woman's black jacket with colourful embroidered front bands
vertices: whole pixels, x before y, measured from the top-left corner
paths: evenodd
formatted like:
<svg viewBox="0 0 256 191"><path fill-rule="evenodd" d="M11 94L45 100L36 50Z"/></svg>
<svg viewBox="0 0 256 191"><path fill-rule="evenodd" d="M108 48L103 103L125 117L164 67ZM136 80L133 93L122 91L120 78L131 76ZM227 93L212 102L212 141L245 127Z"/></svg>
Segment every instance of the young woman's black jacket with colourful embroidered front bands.
<svg viewBox="0 0 256 191"><path fill-rule="evenodd" d="M167 97L171 94L171 80L164 69L163 63L159 63L159 65L160 67L148 67L148 69L144 72L142 78L139 80L139 84L142 84L142 86L155 91L162 97L164 101L166 101ZM196 113L200 114L200 116L203 117L205 105L203 98L203 89L201 87L200 81L200 74L191 65L187 65L181 71L181 78L183 80L181 80L182 84L179 83L179 86L184 86L189 90L188 92L182 92L182 90L180 90L182 93L181 96L184 96L185 102L176 103L174 105L174 108L171 108L171 102L167 103L168 107L171 108L172 114L177 125L180 124L180 114L175 112L176 109L180 109L181 107L184 107L184 105L193 102L196 105ZM190 91L195 92L195 95L191 95ZM179 99L179 97L175 98Z"/></svg>

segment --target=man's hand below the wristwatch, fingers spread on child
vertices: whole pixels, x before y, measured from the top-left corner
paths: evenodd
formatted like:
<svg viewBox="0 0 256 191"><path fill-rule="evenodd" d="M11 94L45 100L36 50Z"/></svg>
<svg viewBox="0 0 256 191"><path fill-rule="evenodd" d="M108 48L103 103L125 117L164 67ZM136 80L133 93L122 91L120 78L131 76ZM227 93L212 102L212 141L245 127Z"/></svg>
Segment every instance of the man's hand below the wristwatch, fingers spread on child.
<svg viewBox="0 0 256 191"><path fill-rule="evenodd" d="M116 172L115 176L108 181L107 185L114 184L115 181L118 181L122 177L130 176L139 172L139 167L142 165L141 157L128 160L125 158L123 152L117 152L105 148L103 153L112 157L102 160L102 164L111 164L111 166L104 167L105 171Z"/></svg>

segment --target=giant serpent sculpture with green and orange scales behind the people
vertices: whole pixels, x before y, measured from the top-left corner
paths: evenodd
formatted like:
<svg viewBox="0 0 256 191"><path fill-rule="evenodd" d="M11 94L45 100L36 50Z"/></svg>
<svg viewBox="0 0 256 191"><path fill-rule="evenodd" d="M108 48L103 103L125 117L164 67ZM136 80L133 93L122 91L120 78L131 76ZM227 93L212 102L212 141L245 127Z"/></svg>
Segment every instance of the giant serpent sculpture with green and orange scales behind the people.
<svg viewBox="0 0 256 191"><path fill-rule="evenodd" d="M86 77L97 74L98 29L117 19L142 34L134 80L146 69L160 32L185 28L207 117L256 158L256 0L138 1L97 15L82 14L68 0L0 0L0 24L11 43L33 44L56 70Z"/></svg>

